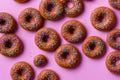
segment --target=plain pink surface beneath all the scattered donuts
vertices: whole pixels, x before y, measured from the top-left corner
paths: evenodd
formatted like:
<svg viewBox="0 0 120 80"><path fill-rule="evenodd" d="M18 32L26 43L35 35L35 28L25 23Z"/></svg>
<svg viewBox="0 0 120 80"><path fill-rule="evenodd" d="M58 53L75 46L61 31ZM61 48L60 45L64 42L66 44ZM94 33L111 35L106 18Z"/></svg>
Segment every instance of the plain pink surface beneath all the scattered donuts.
<svg viewBox="0 0 120 80"><path fill-rule="evenodd" d="M67 20L76 19L84 24L85 28L87 29L88 36L96 35L101 37L104 41L106 41L107 32L100 32L92 27L89 19L90 13L93 9L99 6L107 6L111 8L117 16L116 27L119 28L120 11L113 9L109 5L108 0L83 0L83 1L85 9L83 14L81 14L80 16L76 18L65 17L62 20L56 22L45 21L44 26L55 29L59 33L59 35L61 35L60 34L61 25ZM33 7L38 9L39 3L40 0L30 0L30 2L25 4L18 4L14 2L14 0L1 0L0 12L2 11L8 12L12 14L17 20L17 17L21 10L27 7ZM56 64L54 60L54 52L48 53L38 49L38 47L34 43L35 32L25 31L20 26L18 26L16 34L21 38L21 40L24 43L24 51L20 56L16 58L8 58L0 55L0 80L11 80L11 77L9 75L10 68L15 62L18 61L26 61L30 63L35 70L36 76L43 69L53 69L59 74L61 80L120 80L120 75L110 73L105 66L106 55L109 52L114 51L114 49L110 48L109 46L107 46L107 52L102 58L90 59L82 53L81 43L74 44L74 46L76 46L81 53L82 63L76 69L64 69ZM62 37L61 40L62 44L68 43ZM49 60L47 66L43 68L38 68L33 65L33 57L39 53L44 54Z"/></svg>

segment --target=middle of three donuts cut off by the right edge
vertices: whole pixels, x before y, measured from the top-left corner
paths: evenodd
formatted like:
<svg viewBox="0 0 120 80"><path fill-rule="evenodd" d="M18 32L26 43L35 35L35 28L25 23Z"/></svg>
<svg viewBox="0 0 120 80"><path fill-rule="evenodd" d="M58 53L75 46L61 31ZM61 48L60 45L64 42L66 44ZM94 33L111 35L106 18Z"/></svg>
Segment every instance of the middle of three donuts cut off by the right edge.
<svg viewBox="0 0 120 80"><path fill-rule="evenodd" d="M120 37L120 29L114 29L107 34L106 41L110 47L120 50L120 41L117 40L118 37Z"/></svg>

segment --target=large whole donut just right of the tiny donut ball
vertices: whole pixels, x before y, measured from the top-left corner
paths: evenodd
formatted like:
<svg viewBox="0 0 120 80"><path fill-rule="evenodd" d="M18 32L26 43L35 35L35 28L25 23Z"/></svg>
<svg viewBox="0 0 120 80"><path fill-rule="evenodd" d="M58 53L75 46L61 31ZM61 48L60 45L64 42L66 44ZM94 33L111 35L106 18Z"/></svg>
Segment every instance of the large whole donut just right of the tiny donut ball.
<svg viewBox="0 0 120 80"><path fill-rule="evenodd" d="M63 68L74 68L80 62L80 54L77 48L71 44L61 45L54 54L56 63Z"/></svg>

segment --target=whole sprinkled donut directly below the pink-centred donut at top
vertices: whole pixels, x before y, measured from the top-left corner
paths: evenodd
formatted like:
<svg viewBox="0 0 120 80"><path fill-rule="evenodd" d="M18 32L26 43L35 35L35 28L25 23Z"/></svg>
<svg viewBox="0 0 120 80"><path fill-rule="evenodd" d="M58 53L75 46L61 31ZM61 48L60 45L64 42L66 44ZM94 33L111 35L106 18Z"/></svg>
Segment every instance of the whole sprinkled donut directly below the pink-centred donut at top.
<svg viewBox="0 0 120 80"><path fill-rule="evenodd" d="M62 25L61 34L68 42L77 43L86 37L86 30L79 21L69 20Z"/></svg>

